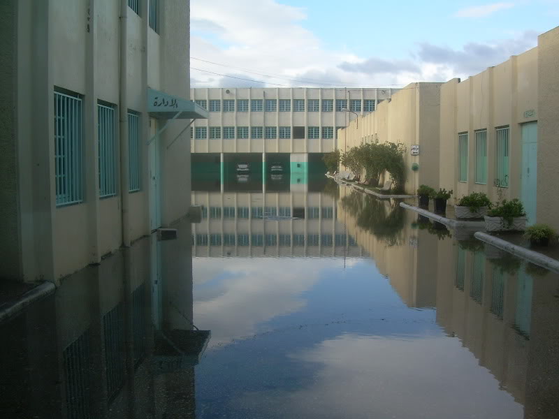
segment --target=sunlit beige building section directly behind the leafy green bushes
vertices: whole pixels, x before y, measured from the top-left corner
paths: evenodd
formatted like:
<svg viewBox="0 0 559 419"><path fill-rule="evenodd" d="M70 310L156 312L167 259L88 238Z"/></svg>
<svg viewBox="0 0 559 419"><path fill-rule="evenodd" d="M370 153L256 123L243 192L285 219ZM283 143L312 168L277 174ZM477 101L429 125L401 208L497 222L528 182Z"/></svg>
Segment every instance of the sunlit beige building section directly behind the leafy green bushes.
<svg viewBox="0 0 559 419"><path fill-rule="evenodd" d="M347 152L365 142L401 142L406 147L405 192L415 194L420 184L437 186L441 84L408 84L375 112L340 130L337 149ZM419 146L419 154L412 155L412 146Z"/></svg>

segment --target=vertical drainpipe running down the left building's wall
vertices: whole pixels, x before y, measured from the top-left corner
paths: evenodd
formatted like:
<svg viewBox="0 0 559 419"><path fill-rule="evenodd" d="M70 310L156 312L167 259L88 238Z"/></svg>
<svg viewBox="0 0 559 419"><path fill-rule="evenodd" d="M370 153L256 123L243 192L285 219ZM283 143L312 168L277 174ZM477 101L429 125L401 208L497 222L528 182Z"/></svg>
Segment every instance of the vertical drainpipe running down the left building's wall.
<svg viewBox="0 0 559 419"><path fill-rule="evenodd" d="M130 246L129 226L129 159L128 105L126 101L126 27L128 1L120 0L120 59L119 59L119 144L120 144L120 205L122 212L122 246Z"/></svg>

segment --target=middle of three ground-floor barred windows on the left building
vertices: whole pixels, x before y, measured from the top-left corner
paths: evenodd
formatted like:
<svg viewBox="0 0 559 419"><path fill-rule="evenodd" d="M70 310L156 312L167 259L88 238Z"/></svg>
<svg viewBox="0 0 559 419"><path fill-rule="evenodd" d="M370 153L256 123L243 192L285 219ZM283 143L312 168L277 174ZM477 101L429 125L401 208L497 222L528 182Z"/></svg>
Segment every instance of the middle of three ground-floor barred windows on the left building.
<svg viewBox="0 0 559 419"><path fill-rule="evenodd" d="M117 194L117 127L115 108L97 105L99 132L99 197Z"/></svg>

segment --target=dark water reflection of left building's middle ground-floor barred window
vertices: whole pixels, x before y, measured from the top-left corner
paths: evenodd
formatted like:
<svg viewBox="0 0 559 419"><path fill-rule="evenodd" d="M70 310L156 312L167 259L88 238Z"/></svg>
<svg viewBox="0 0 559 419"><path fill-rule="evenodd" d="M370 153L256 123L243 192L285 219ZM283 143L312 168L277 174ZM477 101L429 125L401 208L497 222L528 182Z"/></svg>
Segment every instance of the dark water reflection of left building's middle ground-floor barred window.
<svg viewBox="0 0 559 419"><path fill-rule="evenodd" d="M124 384L124 316L122 302L103 316L107 395L114 399Z"/></svg>

